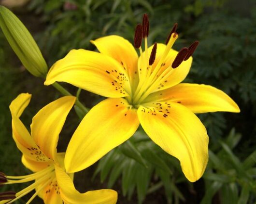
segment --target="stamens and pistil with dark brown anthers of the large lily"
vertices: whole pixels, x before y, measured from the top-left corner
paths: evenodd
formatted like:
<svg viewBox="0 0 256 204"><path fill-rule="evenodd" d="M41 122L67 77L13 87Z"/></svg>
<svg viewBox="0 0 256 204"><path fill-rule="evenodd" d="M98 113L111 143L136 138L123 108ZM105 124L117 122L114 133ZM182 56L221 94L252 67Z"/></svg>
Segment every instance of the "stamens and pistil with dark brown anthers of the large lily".
<svg viewBox="0 0 256 204"><path fill-rule="evenodd" d="M138 62L139 82L131 96L131 104L135 107L141 104L149 94L158 91L168 85L168 78L183 61L186 61L196 50L199 42L192 43L189 48L182 48L176 56L169 59L171 48L178 38L176 33L177 24L171 29L166 40L166 47L161 55L157 56L157 44L155 43L151 51L148 49L147 37L149 33L149 22L147 14L144 14L142 25L138 24L135 29L134 46L140 51ZM144 38L144 52L142 51L142 38ZM169 67L166 61L170 61ZM168 87L167 87L168 88Z"/></svg>

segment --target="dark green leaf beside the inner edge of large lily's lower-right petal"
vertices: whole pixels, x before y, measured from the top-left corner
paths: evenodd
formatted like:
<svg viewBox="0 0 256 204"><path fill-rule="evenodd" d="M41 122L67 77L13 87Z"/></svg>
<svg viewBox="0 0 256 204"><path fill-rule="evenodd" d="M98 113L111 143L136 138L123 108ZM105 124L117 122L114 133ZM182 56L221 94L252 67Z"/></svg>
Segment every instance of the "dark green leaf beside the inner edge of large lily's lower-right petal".
<svg viewBox="0 0 256 204"><path fill-rule="evenodd" d="M168 172L169 174L172 174L171 169L169 166L165 163L165 161L157 156L156 153L154 153L152 150L144 149L142 151L142 156L150 162L153 166L159 167L162 170Z"/></svg>

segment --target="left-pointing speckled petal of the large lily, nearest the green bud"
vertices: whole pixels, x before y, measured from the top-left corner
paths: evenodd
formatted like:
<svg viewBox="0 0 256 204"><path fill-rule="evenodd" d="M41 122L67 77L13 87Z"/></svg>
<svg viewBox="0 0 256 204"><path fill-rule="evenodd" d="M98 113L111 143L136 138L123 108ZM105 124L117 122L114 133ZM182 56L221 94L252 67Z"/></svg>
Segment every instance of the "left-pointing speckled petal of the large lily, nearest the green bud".
<svg viewBox="0 0 256 204"><path fill-rule="evenodd" d="M111 98L128 96L130 91L128 75L120 63L105 54L83 49L71 50L51 67L44 85L56 81Z"/></svg>

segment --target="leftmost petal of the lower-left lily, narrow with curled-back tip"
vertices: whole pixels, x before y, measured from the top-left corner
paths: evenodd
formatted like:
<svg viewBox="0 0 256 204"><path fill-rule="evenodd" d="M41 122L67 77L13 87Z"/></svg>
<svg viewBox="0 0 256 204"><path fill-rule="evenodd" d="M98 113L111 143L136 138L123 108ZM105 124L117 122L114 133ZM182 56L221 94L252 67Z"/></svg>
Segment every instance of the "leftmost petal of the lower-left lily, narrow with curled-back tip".
<svg viewBox="0 0 256 204"><path fill-rule="evenodd" d="M19 116L28 106L30 98L30 94L22 93L18 95L10 104L10 111L12 114L13 139L17 145L17 148L24 155L26 155L28 159L38 162L46 162L48 161L48 158L39 150L35 141L31 138L27 128L19 119Z"/></svg>

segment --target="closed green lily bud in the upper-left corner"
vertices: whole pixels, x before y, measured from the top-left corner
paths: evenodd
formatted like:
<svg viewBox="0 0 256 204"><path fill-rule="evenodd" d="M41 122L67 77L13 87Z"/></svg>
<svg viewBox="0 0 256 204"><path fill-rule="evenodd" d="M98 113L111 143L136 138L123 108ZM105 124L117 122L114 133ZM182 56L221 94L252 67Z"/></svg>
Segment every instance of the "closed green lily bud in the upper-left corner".
<svg viewBox="0 0 256 204"><path fill-rule="evenodd" d="M46 76L48 68L28 29L9 9L0 6L0 27L14 52L34 76Z"/></svg>

